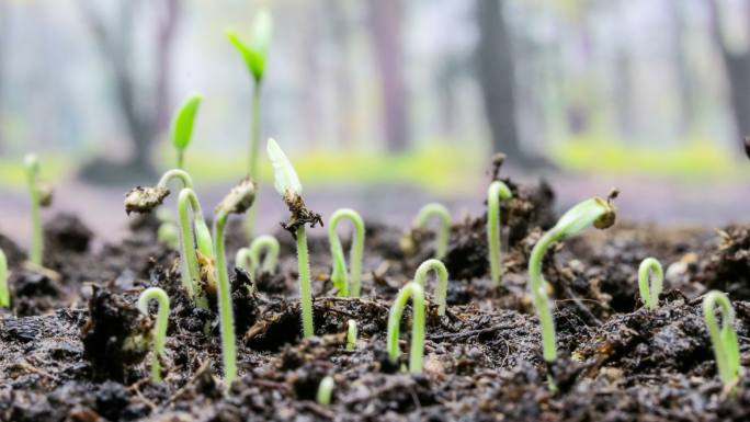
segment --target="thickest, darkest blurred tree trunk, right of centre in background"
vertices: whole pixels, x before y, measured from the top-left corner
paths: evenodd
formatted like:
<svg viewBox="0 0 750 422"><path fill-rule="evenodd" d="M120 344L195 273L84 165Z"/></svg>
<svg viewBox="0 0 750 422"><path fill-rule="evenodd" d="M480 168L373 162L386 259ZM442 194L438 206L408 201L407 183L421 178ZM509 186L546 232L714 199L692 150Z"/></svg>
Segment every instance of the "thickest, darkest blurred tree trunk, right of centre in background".
<svg viewBox="0 0 750 422"><path fill-rule="evenodd" d="M477 0L479 42L475 60L485 111L492 135L492 150L519 166L533 160L521 148L515 122L514 71L511 36L504 19L504 1Z"/></svg>

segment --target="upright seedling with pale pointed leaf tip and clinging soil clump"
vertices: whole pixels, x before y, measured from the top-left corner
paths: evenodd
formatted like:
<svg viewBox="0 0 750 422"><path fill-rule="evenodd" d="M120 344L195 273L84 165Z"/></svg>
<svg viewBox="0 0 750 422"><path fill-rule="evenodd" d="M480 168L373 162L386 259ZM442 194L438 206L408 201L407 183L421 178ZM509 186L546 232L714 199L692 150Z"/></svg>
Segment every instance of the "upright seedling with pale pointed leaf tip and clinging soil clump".
<svg viewBox="0 0 750 422"><path fill-rule="evenodd" d="M312 294L310 292L310 263L307 253L307 233L305 225L315 227L322 226L320 214L314 213L305 206L302 197L302 183L297 172L284 151L275 140L269 138L266 152L274 171L274 187L282 195L284 203L289 208L292 217L282 223L282 227L292 233L297 240L297 266L299 272L299 301L302 304L303 337L305 339L315 335L312 322Z"/></svg>

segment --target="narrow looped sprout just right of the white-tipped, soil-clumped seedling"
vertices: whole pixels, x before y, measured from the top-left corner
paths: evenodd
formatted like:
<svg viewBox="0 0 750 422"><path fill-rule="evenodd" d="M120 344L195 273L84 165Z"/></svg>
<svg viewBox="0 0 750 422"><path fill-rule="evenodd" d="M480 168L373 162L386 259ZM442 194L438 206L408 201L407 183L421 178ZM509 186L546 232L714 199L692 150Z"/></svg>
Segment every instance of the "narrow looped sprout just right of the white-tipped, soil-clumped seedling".
<svg viewBox="0 0 750 422"><path fill-rule="evenodd" d="M343 218L348 218L354 225L354 236L352 248L349 252L349 263L351 265L349 277L346 276L346 261L343 248L339 240L336 228ZM342 208L331 215L328 220L328 243L331 246L331 258L333 260L333 271L331 282L339 289L341 297L360 297L362 289L362 254L364 253L364 220L357 212L351 208ZM346 280L349 278L349 281Z"/></svg>

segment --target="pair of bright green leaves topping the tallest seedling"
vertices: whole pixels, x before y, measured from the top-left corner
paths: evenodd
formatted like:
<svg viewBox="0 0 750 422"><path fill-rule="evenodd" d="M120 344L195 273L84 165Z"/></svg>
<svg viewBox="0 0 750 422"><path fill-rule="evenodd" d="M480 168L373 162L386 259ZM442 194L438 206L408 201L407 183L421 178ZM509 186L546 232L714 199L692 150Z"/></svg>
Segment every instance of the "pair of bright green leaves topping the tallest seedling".
<svg viewBox="0 0 750 422"><path fill-rule="evenodd" d="M255 82L263 80L265 72L265 60L271 45L271 34L273 32L273 20L266 9L262 9L252 22L252 38L250 44L240 39L234 30L226 30L227 38L231 45L242 55L248 71L255 79Z"/></svg>

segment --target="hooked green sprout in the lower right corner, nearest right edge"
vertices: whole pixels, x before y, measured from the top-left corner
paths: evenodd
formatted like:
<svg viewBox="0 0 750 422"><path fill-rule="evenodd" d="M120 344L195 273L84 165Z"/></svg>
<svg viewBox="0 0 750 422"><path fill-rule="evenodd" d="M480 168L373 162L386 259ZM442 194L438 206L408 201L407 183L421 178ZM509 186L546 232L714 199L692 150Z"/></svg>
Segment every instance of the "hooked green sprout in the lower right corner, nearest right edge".
<svg viewBox="0 0 750 422"><path fill-rule="evenodd" d="M721 328L716 323L714 308L718 304L721 310ZM735 308L727 295L721 292L711 290L703 298L703 318L708 328L711 342L714 345L716 366L718 367L719 378L725 386L732 386L737 383L740 370L739 343L737 332L735 332Z"/></svg>

